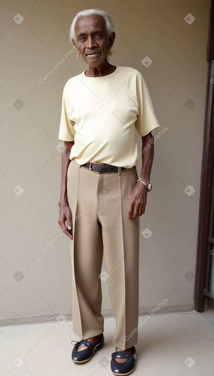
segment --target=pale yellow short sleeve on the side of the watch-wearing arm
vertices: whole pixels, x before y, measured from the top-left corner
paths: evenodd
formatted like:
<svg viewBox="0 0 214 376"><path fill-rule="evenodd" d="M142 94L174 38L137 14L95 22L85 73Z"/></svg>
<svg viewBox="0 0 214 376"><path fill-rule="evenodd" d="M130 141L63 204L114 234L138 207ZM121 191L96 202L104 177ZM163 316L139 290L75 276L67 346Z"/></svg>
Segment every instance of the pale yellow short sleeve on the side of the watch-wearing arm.
<svg viewBox="0 0 214 376"><path fill-rule="evenodd" d="M139 72L137 74L136 85L139 114L135 122L135 128L140 137L143 137L150 133L153 129L159 127L159 124L154 113L146 82Z"/></svg>

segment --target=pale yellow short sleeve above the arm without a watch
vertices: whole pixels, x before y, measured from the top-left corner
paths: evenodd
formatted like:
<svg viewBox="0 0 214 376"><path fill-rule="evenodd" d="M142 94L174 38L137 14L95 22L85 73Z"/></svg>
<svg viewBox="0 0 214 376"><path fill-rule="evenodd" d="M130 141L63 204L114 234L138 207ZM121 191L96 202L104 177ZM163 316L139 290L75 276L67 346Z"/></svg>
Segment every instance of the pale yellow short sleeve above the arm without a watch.
<svg viewBox="0 0 214 376"><path fill-rule="evenodd" d="M62 93L62 110L61 110L61 119L60 119L58 138L63 141L74 141L74 137L75 137L74 122L70 120L68 117L68 113L67 113L68 102L69 102L69 91L65 84L65 87Z"/></svg>

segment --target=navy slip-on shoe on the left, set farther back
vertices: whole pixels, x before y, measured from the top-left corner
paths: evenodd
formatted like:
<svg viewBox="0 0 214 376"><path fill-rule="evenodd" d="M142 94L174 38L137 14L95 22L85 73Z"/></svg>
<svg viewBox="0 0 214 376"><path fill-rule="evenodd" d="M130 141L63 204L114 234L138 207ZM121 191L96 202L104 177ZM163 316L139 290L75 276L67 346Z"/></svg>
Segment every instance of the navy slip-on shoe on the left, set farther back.
<svg viewBox="0 0 214 376"><path fill-rule="evenodd" d="M77 341L72 341L75 342L75 344L72 345L75 346L72 351L72 360L75 363L84 363L87 362L91 357L93 356L94 352L101 348L104 344L104 335L103 333L100 335L99 341L97 345L92 345L89 341L87 340L81 340L79 342ZM86 346L87 348L82 350L82 351L77 351L78 346Z"/></svg>

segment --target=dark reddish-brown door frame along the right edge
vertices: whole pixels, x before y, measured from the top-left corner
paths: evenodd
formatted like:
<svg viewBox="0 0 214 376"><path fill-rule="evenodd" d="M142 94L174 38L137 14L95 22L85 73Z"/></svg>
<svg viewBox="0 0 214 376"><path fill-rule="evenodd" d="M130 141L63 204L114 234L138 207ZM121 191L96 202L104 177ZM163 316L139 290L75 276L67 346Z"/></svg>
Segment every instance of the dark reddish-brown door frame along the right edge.
<svg viewBox="0 0 214 376"><path fill-rule="evenodd" d="M214 4L211 0L209 38L207 48L207 60L209 61L207 100L206 100L206 118L203 140L203 156L201 167L201 189L199 205L199 226L196 260L196 278L195 278L195 310L203 311L203 289L207 288L207 269L210 255L207 254L207 237L209 225L209 207L211 198L212 168L214 156L214 82L210 77L212 74L214 59Z"/></svg>

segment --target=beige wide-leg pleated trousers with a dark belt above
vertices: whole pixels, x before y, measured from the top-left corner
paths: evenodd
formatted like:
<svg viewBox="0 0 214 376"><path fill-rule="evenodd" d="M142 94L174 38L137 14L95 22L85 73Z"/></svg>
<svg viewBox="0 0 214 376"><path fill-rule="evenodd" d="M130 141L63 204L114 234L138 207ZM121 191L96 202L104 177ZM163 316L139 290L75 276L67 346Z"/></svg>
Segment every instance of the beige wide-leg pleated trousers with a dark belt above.
<svg viewBox="0 0 214 376"><path fill-rule="evenodd" d="M135 167L96 174L75 160L67 171L74 331L81 339L104 331L101 280L107 281L116 320L113 344L123 350L137 343L139 218L127 218L136 179Z"/></svg>

